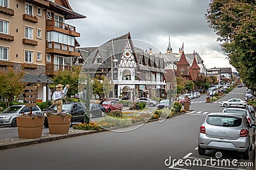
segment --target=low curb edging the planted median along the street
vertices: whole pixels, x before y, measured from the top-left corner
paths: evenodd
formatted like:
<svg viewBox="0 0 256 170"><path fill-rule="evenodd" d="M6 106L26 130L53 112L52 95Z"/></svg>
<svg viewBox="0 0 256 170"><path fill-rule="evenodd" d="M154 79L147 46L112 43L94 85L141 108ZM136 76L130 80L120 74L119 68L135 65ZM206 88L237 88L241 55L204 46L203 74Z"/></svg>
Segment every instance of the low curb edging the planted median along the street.
<svg viewBox="0 0 256 170"><path fill-rule="evenodd" d="M150 110L150 109L148 109ZM177 117L179 115L183 115L186 112L183 113L178 113L177 115L173 115L170 118ZM166 118L168 119L168 117ZM140 124L147 124L150 122L156 122L161 119L153 119L153 120L148 120L147 122L138 122L132 125L140 125ZM10 148L17 148L20 146L28 146L28 145L33 145L33 144L38 144L38 143L45 143L49 141L56 141L60 139L66 139L66 138L72 138L72 137L77 137L77 136L84 136L87 134L95 134L98 132L106 132L109 130L114 130L114 129L120 129L124 127L112 127L109 129L101 129L99 131L83 131L83 130L76 130L73 129L72 131L69 131L68 134L49 134L49 133L44 133L42 134L41 138L36 138L36 139L21 139L21 138L7 138L7 139L0 139L0 150L6 150Z"/></svg>

